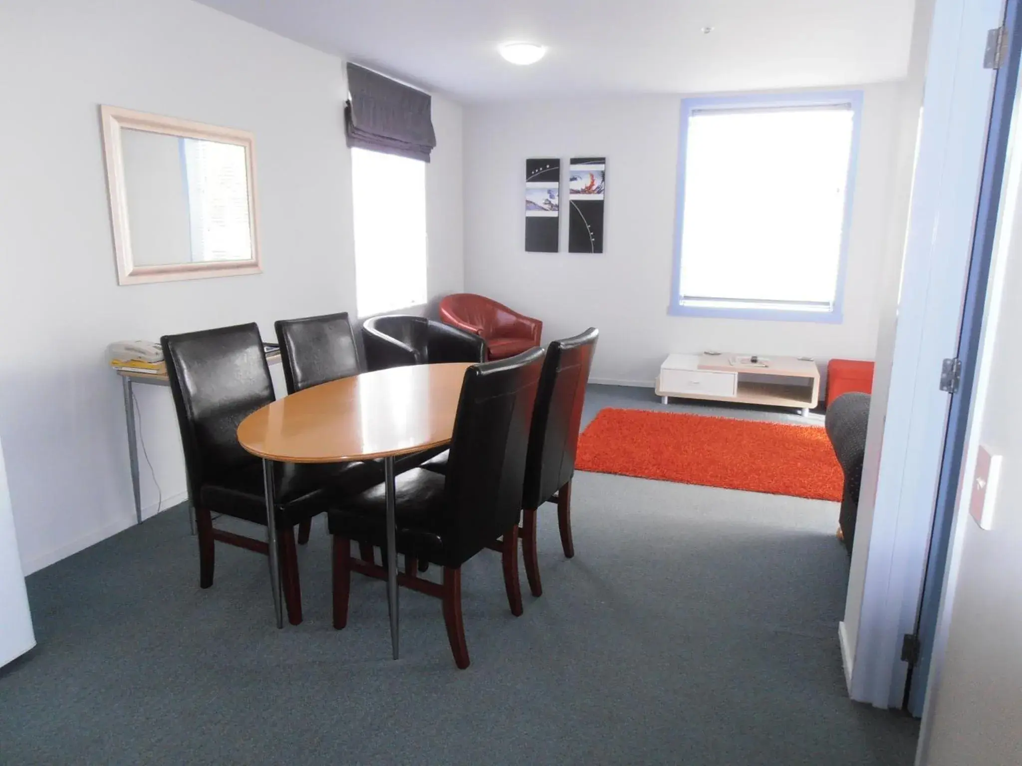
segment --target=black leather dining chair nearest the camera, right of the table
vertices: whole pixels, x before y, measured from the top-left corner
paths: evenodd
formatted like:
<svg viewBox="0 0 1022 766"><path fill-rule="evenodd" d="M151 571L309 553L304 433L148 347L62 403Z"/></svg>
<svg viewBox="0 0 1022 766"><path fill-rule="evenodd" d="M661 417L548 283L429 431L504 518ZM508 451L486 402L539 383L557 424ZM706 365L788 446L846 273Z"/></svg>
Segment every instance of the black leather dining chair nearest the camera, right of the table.
<svg viewBox="0 0 1022 766"><path fill-rule="evenodd" d="M518 523L529 424L543 349L533 348L465 371L446 475L413 469L397 478L397 546L405 556L400 585L444 604L448 640L459 668L469 664L461 611L461 567L503 537L504 585L511 613L521 614ZM386 579L386 570L355 560L351 540L383 545L382 486L350 498L328 516L333 535L333 625L347 624L351 573ZM444 568L443 584L416 575L416 562Z"/></svg>

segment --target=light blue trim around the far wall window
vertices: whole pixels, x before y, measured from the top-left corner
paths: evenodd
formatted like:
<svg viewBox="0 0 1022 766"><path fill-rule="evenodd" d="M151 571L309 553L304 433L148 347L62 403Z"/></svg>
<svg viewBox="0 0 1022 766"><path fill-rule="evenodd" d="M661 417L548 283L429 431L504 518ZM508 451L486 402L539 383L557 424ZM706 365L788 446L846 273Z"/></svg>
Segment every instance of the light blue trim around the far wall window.
<svg viewBox="0 0 1022 766"><path fill-rule="evenodd" d="M729 106L754 109L785 106L830 106L850 104L852 111L851 151L848 153L848 183L845 188L844 220L841 227L841 253L838 261L837 290L830 312L773 310L770 308L714 308L682 305L682 223L685 220L685 159L692 112L707 107ZM679 131L678 197L675 222L675 257L670 277L670 303L667 314L676 317L714 317L718 319L773 320L778 322L815 322L841 324L844 320L844 278L848 268L848 241L851 212L855 198L855 175L858 170L858 144L863 124L863 91L827 91L783 95L744 95L711 98L686 98L682 101L682 125Z"/></svg>

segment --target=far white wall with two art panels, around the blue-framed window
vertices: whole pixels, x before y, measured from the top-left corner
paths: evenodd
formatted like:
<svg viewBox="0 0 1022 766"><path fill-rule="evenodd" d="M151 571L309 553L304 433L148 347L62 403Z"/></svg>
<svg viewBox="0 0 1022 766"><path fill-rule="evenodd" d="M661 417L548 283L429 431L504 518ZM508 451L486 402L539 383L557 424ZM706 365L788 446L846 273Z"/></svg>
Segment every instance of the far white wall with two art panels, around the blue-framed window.
<svg viewBox="0 0 1022 766"><path fill-rule="evenodd" d="M465 110L465 285L545 323L547 338L600 329L593 377L652 385L672 351L708 348L873 358L885 284L901 86L865 88L844 322L667 316L681 97L537 101ZM526 157L607 157L602 255L524 251ZM562 219L565 218L562 216ZM562 248L566 249L562 236Z"/></svg>

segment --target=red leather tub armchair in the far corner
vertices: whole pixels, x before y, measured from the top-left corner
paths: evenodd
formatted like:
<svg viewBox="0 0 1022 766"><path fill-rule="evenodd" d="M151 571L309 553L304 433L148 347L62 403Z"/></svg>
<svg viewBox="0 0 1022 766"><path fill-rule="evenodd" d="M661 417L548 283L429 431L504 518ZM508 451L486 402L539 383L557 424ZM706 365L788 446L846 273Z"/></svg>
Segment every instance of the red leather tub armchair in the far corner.
<svg viewBox="0 0 1022 766"><path fill-rule="evenodd" d="M440 320L486 341L486 357L503 360L540 345L543 323L503 303L473 293L455 293L440 301Z"/></svg>

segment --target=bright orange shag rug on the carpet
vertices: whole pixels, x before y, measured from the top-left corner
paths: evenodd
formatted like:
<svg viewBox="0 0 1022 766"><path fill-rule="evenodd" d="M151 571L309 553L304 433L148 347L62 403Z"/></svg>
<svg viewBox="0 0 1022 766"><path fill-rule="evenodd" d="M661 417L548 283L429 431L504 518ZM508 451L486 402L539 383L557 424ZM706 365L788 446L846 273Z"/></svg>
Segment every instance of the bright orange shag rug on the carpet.
<svg viewBox="0 0 1022 766"><path fill-rule="evenodd" d="M582 471L840 500L827 432L701 415L603 410L578 438Z"/></svg>

